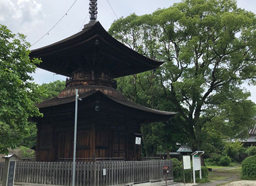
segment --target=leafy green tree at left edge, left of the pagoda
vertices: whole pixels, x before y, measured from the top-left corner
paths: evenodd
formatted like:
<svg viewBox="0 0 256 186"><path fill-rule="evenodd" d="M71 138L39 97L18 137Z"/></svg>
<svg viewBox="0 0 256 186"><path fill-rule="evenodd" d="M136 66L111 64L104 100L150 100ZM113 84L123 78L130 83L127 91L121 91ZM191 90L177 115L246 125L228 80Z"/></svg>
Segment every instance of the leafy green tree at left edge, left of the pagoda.
<svg viewBox="0 0 256 186"><path fill-rule="evenodd" d="M28 118L41 116L36 103L43 92L30 75L40 60L29 59L29 46L24 35L0 25L0 153L29 134Z"/></svg>

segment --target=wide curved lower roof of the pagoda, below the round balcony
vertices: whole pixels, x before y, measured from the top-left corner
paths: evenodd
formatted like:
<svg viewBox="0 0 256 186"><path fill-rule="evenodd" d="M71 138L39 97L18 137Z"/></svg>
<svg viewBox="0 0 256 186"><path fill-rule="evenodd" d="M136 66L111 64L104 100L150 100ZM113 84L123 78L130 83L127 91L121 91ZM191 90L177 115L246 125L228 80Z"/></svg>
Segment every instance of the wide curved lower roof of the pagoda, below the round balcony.
<svg viewBox="0 0 256 186"><path fill-rule="evenodd" d="M78 110L80 112L83 110L82 112L87 115L104 113L112 118L123 117L126 120L133 120L137 123L150 123L168 120L170 117L177 114L148 108L125 99L116 99L108 95L104 95L99 90L84 92L79 94L79 98L81 98L82 101L78 102ZM55 113L56 115L59 115L62 110L66 112L68 109L74 110L74 102L75 96L66 98L55 97L45 100L37 106L44 116L49 117L49 115L54 115ZM99 112L94 110L95 104L99 105Z"/></svg>

